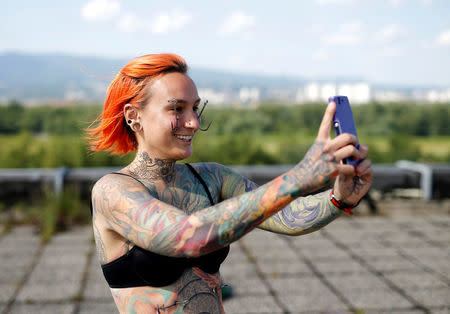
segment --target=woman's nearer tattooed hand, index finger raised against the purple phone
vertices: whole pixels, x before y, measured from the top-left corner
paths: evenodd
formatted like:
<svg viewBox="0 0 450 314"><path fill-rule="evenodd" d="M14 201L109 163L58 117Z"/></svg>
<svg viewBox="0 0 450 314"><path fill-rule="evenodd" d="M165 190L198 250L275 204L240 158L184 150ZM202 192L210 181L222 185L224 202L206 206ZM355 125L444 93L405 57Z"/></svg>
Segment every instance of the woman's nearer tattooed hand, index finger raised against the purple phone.
<svg viewBox="0 0 450 314"><path fill-rule="evenodd" d="M355 147L356 137L348 133L341 134L334 139L330 137L335 111L336 104L329 103L314 144L294 168L299 195L306 195L325 187L339 173L355 174L355 168L352 165L341 163L341 160L348 157L355 159L361 157L359 150Z"/></svg>

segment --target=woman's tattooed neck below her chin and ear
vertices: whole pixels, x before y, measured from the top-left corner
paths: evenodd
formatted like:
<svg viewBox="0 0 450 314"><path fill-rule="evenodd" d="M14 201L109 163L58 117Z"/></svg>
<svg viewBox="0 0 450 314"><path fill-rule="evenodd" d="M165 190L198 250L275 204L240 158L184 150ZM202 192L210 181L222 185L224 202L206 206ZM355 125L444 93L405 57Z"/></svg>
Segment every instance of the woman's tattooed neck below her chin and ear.
<svg viewBox="0 0 450 314"><path fill-rule="evenodd" d="M171 182L175 174L175 160L151 158L147 152L138 152L130 164L130 174L144 180Z"/></svg>

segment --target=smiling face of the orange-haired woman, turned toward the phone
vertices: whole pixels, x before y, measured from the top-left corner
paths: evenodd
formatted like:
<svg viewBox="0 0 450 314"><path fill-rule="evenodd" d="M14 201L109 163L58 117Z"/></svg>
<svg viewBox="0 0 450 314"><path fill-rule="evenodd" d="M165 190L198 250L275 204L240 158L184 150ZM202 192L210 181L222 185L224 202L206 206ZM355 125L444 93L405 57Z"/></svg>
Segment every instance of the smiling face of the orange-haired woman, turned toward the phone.
<svg viewBox="0 0 450 314"><path fill-rule="evenodd" d="M140 149L153 158L181 160L189 157L194 134L199 128L200 98L194 82L185 74L168 73L153 82L148 92L149 101L140 112Z"/></svg>

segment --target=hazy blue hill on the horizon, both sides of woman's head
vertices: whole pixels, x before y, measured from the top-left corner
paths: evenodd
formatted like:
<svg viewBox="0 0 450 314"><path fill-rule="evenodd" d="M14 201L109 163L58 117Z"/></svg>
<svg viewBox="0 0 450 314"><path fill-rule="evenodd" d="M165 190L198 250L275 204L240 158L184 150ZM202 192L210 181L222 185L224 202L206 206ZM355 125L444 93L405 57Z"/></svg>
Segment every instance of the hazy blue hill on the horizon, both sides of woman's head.
<svg viewBox="0 0 450 314"><path fill-rule="evenodd" d="M62 54L0 54L0 102L100 101L125 59ZM199 88L237 91L239 88L296 88L301 78L236 74L191 66L190 75Z"/></svg>

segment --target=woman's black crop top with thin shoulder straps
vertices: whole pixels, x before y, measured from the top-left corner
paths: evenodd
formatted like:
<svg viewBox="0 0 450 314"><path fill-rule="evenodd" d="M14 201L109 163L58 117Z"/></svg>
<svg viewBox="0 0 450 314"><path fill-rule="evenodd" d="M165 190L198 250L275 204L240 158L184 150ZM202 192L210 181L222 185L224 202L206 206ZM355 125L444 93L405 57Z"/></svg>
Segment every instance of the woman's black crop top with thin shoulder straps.
<svg viewBox="0 0 450 314"><path fill-rule="evenodd" d="M214 205L204 180L191 165L186 165L203 185L211 205ZM119 172L116 174L128 176ZM140 182L136 178L132 178ZM142 182L140 183L142 184ZM220 264L227 257L229 250L230 247L226 246L200 257L186 258L159 255L135 245L125 255L103 264L101 267L111 288L163 287L174 283L188 267L195 266L206 273L215 274L219 271Z"/></svg>

